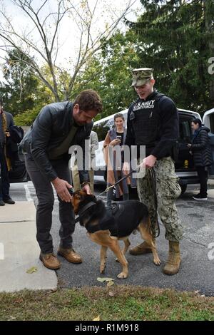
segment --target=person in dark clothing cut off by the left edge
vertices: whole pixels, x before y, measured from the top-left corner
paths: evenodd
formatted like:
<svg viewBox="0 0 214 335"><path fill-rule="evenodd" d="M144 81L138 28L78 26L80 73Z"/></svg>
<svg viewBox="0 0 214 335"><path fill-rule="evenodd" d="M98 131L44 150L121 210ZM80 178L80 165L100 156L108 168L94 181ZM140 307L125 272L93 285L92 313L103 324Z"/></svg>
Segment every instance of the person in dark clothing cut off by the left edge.
<svg viewBox="0 0 214 335"><path fill-rule="evenodd" d="M11 160L6 150L10 138L8 128L12 125L14 125L13 116L11 113L7 113L3 110L3 100L0 98L0 206L4 206L5 204L14 205L15 203L9 195L9 170L11 170Z"/></svg>

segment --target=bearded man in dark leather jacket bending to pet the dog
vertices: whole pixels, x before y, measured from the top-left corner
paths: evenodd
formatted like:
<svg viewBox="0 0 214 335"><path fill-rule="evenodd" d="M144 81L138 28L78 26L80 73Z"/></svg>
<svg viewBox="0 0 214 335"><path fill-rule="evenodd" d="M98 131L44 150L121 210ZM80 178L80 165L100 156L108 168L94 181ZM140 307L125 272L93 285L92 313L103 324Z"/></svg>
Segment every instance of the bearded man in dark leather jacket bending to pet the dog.
<svg viewBox="0 0 214 335"><path fill-rule="evenodd" d="M58 254L68 262L81 263L81 257L72 248L75 222L71 205L71 171L68 168L68 153L71 145L83 150L83 167L79 168L81 187L91 194L88 168L85 166L85 140L89 139L92 119L103 106L98 93L92 90L81 92L74 103L65 101L51 103L41 109L31 129L21 141L25 153L26 170L29 173L39 204L36 208L36 238L41 249L40 259L45 267L58 269L61 264L53 253L50 234L54 206L54 186L59 200L61 237ZM78 160L79 161L79 160Z"/></svg>

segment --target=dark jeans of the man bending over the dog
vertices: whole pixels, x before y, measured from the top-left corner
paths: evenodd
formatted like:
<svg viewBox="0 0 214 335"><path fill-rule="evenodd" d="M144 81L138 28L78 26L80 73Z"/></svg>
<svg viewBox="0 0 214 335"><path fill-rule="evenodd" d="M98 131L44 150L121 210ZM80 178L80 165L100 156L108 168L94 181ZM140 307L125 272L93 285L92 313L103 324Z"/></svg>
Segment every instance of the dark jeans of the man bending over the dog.
<svg viewBox="0 0 214 335"><path fill-rule="evenodd" d="M36 209L36 239L43 254L53 252L53 239L50 234L52 225L52 211L54 207L54 192L51 182L40 172L35 161L25 155L26 170L36 189L36 196L39 204ZM71 184L71 172L68 163L63 160L53 160L51 164L59 178ZM74 212L71 203L59 200L59 220L61 227L59 236L60 246L63 248L72 247L72 234L74 232Z"/></svg>

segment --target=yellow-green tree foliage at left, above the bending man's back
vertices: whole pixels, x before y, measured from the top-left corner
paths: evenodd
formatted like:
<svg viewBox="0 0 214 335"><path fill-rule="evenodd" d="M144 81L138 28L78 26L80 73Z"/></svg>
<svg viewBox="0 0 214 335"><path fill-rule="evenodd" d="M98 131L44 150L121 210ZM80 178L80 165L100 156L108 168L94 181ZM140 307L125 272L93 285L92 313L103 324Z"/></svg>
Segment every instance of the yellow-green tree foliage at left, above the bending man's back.
<svg viewBox="0 0 214 335"><path fill-rule="evenodd" d="M31 125L41 108L54 102L54 96L36 74L26 66L26 55L16 50L9 52L4 66L4 82L0 95L4 110L14 115L16 125ZM41 72L46 68L41 68Z"/></svg>

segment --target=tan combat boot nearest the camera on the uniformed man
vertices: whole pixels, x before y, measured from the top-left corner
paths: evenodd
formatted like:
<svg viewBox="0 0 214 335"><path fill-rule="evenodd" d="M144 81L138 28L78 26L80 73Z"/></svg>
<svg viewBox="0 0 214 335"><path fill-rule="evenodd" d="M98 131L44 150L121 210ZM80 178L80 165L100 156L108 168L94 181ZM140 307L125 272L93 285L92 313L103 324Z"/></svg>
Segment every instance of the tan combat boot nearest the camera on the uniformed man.
<svg viewBox="0 0 214 335"><path fill-rule="evenodd" d="M169 254L168 261L163 268L163 273L165 274L176 274L180 269L180 248L179 242L169 241Z"/></svg>

